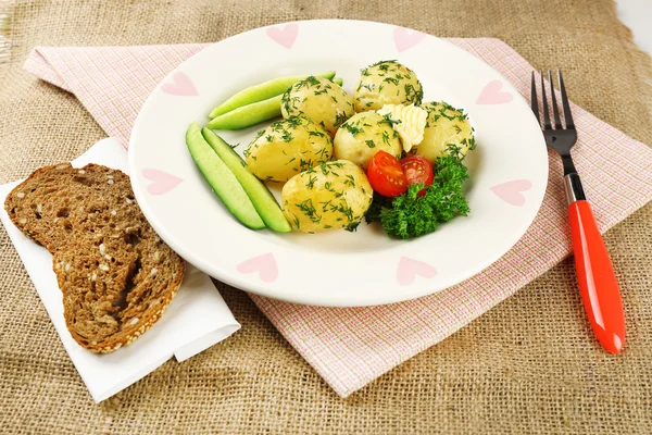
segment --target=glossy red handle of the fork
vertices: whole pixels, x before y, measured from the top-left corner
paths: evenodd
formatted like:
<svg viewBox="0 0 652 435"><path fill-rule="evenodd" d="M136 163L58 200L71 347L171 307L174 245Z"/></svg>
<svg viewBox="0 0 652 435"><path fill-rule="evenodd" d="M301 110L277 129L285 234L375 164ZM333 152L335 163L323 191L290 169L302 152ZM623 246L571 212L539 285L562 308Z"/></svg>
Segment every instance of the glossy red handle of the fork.
<svg viewBox="0 0 652 435"><path fill-rule="evenodd" d="M618 353L625 346L625 313L614 268L591 206L575 201L568 215L577 281L591 327L604 349Z"/></svg>

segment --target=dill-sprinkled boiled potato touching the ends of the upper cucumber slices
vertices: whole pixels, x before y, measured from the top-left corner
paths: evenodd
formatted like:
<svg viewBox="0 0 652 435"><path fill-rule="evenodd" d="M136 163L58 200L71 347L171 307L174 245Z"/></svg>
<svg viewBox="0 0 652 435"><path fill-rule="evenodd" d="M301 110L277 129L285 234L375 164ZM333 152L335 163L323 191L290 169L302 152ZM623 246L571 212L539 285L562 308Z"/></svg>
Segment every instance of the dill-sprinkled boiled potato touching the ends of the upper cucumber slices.
<svg viewBox="0 0 652 435"><path fill-rule="evenodd" d="M353 98L337 83L310 76L288 89L280 103L283 117L301 115L319 124L330 137L355 113Z"/></svg>

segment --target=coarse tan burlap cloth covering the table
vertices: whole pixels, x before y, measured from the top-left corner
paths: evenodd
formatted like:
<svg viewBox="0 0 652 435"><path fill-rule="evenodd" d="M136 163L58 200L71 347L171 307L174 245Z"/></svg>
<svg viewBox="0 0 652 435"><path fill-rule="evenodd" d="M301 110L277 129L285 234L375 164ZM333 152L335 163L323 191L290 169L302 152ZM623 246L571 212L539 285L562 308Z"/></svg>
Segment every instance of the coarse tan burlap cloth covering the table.
<svg viewBox="0 0 652 435"><path fill-rule="evenodd" d="M578 104L652 144L650 58L631 42L612 0L42 1L7 8L12 53L9 66L0 67L1 183L71 160L105 136L74 97L22 70L34 46L206 42L317 17L501 38L536 66L563 67ZM572 261L565 261L342 400L243 293L220 285L242 324L239 333L183 364L167 362L96 406L2 229L0 432L647 434L652 207L610 231L605 241L628 321L620 357L593 340Z"/></svg>

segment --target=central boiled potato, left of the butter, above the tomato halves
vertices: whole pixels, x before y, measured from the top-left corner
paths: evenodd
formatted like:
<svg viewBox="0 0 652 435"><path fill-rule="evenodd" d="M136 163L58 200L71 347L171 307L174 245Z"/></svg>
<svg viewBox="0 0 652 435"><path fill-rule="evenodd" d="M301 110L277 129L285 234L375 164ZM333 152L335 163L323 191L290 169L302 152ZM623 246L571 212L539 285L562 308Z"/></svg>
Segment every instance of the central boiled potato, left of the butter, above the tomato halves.
<svg viewBox="0 0 652 435"><path fill-rule="evenodd" d="M392 128L390 120L376 112L354 114L335 135L335 158L349 160L365 170L379 150L397 159L401 158L403 151L399 134Z"/></svg>

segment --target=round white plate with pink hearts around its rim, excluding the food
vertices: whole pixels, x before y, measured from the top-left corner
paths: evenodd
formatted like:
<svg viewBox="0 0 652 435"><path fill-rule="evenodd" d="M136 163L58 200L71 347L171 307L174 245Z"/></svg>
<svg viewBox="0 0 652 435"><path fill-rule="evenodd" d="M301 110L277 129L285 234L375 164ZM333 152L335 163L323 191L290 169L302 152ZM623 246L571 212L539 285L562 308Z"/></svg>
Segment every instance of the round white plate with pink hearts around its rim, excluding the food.
<svg viewBox="0 0 652 435"><path fill-rule="evenodd" d="M424 101L463 108L476 128L471 214L428 236L392 240L376 225L356 233L276 234L234 219L197 170L184 141L217 103L283 75L336 70L352 91L360 70L397 59L421 79ZM256 127L223 132L241 153ZM138 203L187 261L235 287L287 301L371 306L442 290L504 254L532 222L548 157L528 104L490 66L452 44L361 21L305 21L256 28L188 59L154 89L134 125L129 170ZM278 194L278 192L276 192Z"/></svg>

